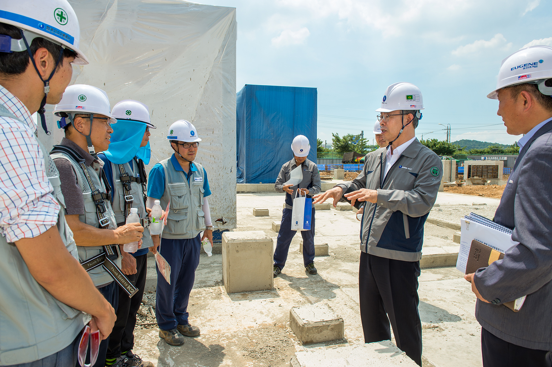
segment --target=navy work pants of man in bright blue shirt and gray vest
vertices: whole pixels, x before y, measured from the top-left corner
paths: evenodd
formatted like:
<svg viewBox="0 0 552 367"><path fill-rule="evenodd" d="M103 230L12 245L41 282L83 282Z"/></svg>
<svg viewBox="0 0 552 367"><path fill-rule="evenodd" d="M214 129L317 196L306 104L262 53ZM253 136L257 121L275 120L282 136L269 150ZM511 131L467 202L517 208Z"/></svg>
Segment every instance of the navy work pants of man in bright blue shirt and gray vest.
<svg viewBox="0 0 552 367"><path fill-rule="evenodd" d="M199 265L201 239L161 238L161 255L171 265L171 284L157 268L155 316L162 330L175 329L188 323L188 301L194 286L195 269Z"/></svg>

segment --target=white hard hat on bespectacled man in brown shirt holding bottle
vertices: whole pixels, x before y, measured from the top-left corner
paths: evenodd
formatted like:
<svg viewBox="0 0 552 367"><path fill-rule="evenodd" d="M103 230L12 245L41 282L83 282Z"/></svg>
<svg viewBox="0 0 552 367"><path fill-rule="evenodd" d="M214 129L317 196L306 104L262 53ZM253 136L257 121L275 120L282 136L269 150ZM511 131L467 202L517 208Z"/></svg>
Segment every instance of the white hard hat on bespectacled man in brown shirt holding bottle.
<svg viewBox="0 0 552 367"><path fill-rule="evenodd" d="M63 117L62 112L71 115L75 114L97 114L109 117L110 123L117 122L111 115L109 98L107 93L100 88L88 86L87 84L73 84L63 92L60 103L54 107L54 114ZM58 127L63 127L58 124Z"/></svg>

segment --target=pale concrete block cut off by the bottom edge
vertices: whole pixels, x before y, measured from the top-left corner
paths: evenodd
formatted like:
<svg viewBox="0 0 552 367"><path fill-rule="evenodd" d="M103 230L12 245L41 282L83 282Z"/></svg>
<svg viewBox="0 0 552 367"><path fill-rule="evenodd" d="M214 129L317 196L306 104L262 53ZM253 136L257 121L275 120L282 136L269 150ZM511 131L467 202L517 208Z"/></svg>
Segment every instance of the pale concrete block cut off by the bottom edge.
<svg viewBox="0 0 552 367"><path fill-rule="evenodd" d="M391 341L369 344L353 344L346 347L309 348L296 352L289 362L290 367L416 367Z"/></svg>

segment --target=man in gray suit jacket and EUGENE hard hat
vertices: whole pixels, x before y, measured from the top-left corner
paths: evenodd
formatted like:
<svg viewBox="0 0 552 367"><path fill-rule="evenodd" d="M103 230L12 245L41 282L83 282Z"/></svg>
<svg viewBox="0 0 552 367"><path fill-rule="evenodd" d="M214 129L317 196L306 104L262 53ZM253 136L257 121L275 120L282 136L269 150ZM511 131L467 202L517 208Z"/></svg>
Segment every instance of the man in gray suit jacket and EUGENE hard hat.
<svg viewBox="0 0 552 367"><path fill-rule="evenodd" d="M525 134L495 213L513 230L502 260L466 274L477 296L485 367L552 365L552 47L532 46L502 61L495 91L508 134ZM526 68L530 67L530 74ZM519 310L503 304L527 295Z"/></svg>

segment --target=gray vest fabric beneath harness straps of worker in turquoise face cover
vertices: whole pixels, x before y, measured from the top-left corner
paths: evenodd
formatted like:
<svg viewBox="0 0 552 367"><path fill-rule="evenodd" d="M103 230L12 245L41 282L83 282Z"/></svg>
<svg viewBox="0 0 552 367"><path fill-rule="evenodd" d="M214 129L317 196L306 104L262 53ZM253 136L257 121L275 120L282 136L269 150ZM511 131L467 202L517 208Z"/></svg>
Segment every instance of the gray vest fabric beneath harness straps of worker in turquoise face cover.
<svg viewBox="0 0 552 367"><path fill-rule="evenodd" d="M130 177L139 177L139 174L136 174L138 171L137 162L134 161L132 166L134 166L134 171L130 168L130 164L124 163L124 169L126 174ZM115 213L115 220L117 223L126 222L125 217L125 190L123 189L123 183L121 183L121 170L119 164L111 163L111 168L113 172L113 204L112 209ZM146 205L144 205L144 200L142 200L144 193L142 192L142 184L139 182L130 182L130 195L132 195L132 206L131 208L138 209L138 216L141 219L147 217ZM150 228L144 228L144 235L142 235L142 247L153 247L153 241L151 240Z"/></svg>

